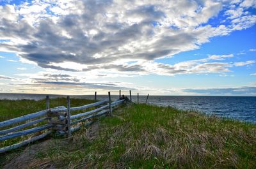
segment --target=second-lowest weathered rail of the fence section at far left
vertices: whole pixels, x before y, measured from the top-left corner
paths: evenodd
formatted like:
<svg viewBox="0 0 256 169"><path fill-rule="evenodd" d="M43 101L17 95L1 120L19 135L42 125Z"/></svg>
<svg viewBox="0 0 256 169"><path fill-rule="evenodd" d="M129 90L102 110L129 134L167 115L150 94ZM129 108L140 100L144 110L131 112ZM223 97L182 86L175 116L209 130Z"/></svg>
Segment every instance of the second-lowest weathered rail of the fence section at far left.
<svg viewBox="0 0 256 169"><path fill-rule="evenodd" d="M39 126L39 127L31 128L31 129L26 129L24 131L18 131L16 133L11 133L11 134L5 135L5 136L0 136L0 141L8 140L10 138L15 138L17 136L24 136L24 135L29 135L29 134L32 134L32 133L36 133L36 132L42 131L44 129L52 128L52 126L54 126L54 125L45 124L43 126Z"/></svg>

